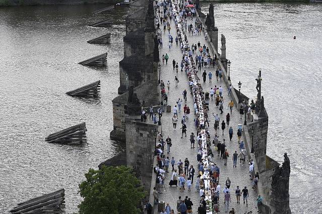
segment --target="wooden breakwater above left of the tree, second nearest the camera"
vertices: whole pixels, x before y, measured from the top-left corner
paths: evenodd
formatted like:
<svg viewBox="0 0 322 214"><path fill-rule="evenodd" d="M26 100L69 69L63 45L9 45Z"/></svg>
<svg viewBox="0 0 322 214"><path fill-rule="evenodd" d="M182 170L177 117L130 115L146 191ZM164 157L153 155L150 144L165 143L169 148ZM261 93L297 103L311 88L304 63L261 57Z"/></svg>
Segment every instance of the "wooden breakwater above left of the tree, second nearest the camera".
<svg viewBox="0 0 322 214"><path fill-rule="evenodd" d="M48 143L81 144L86 141L86 124L81 123L48 135Z"/></svg>

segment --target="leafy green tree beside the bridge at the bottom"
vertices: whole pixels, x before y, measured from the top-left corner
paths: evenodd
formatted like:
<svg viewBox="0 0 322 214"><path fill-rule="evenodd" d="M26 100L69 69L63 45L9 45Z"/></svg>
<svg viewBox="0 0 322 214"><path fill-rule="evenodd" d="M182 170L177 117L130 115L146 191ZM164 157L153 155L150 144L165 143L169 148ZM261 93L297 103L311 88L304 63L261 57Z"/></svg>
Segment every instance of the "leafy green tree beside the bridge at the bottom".
<svg viewBox="0 0 322 214"><path fill-rule="evenodd" d="M145 196L140 180L126 166L103 166L89 169L86 181L79 184L84 200L78 205L79 213L139 213L136 207ZM139 187L137 187L139 186Z"/></svg>

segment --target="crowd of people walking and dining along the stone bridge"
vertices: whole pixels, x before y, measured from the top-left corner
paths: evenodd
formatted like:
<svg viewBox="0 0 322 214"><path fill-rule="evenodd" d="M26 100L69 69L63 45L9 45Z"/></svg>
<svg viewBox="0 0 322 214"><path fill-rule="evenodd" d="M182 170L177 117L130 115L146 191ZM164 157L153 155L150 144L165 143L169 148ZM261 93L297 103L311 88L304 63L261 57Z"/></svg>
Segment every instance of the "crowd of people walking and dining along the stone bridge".
<svg viewBox="0 0 322 214"><path fill-rule="evenodd" d="M213 67L216 68L217 63L217 57L216 55L212 58L209 54L209 49L203 45L201 46L200 42L198 44L193 44L191 47L188 43L186 34L181 34L180 32L188 32L189 35L200 35L203 31L202 24L199 23L197 20L195 21L195 25L188 24L189 20L192 21L193 17L195 17L195 11L193 8L187 8L186 6L190 4L190 2L185 2L184 5L181 3L175 2L174 4L171 2L171 0L164 0L164 1L155 1L155 12L156 16L158 17L156 21L157 26L157 35L158 35L158 43L159 47L162 48L163 41L162 41L162 29L160 28L160 25L163 25L163 31L164 35L168 35L169 40L169 50L171 50L171 47L173 46L173 41L175 40L176 46L179 46L183 53L183 58L181 61L176 62L175 59L173 59L173 70L178 74L179 72L179 66L181 67L181 72L186 72L188 79L189 79L189 86L190 86L190 94L193 95L194 99L194 115L195 119L193 120L194 125L196 126L196 134L194 132L191 132L189 136L190 140L190 148L196 149L197 151L197 161L198 164L196 166L190 164L190 158L186 157L184 160L179 159L176 160L175 157L170 156L171 154L171 146L173 144L172 139L170 136L167 136L166 140L164 140L164 137L162 134L159 133L158 135L158 144L156 146L155 154L157 155L157 165L153 168L153 171L156 173L156 180L155 180L155 187L153 189L153 196L154 196L154 203L158 202L159 194L162 194L162 188L166 188L166 174L171 173L171 179L169 180L169 183L167 181L167 184L169 184L171 187L179 186L179 191L184 192L185 190L191 191L195 189L195 191L199 192L200 201L199 207L198 207L198 213L206 213L206 208L209 208L209 205L212 207L213 213L217 213L220 210L224 210L225 212L234 213L234 208L229 209L230 201L232 200L231 194L235 194L236 203L240 203L240 196L243 198L243 203L248 206L248 196L249 196L249 190L247 186L244 186L243 188L239 188L239 185L235 184L234 192L231 190L231 181L229 177L226 178L226 180L223 182L219 182L220 177L220 167L215 162L223 161L224 166L227 165L228 159L229 159L229 151L227 149L227 145L225 142L225 139L222 139L222 141L219 140L219 137L217 135L217 129L219 127L220 123L220 117L218 113L213 115L214 118L214 131L215 131L215 137L213 140L211 140L210 137L210 127L209 127L209 120L208 120L208 110L209 110L209 99L211 98L211 101L215 100L215 106L219 108L220 114L223 113L223 87L219 83L219 86L215 85L213 88L210 89L209 93L204 92L202 89L202 85L200 83L200 79L197 76L198 71L201 70L203 67ZM174 7L174 8L173 8ZM171 23L175 22L175 25L177 27L177 34L178 35L171 35ZM168 32L166 33L166 30ZM198 48L198 49L197 49ZM195 58L193 55L196 54ZM168 64L169 55L163 55L162 56L163 64L166 60L166 65ZM180 63L180 64L179 64ZM222 79L222 71L219 69L215 70L216 80L217 82L221 82ZM203 82L206 82L206 77L209 78L209 83L212 82L212 73L211 71L206 73L206 71L203 72ZM174 79L176 87L178 87L179 79L176 76ZM224 83L223 83L224 84ZM167 86L166 86L167 85ZM160 91L162 94L163 101L165 103L168 103L168 96L166 87L168 89L168 93L171 91L171 82L168 81L166 84L161 81L160 82ZM228 87L228 95L231 92L231 85ZM210 98L209 98L210 94ZM177 129L178 121L181 121L181 130L182 130L182 136L187 137L187 120L189 119L190 114L190 108L185 103L187 101L187 90L184 90L182 92L183 99L178 98L176 101L175 106L173 107L173 128L174 130ZM185 103L185 104L184 104ZM178 113L182 111L182 106L184 115L182 116L181 120L178 118ZM227 108L230 110L226 115L226 122L222 120L221 122L221 129L222 129L222 135L224 135L224 130L226 126L229 126L230 117L232 114L232 109L234 107L234 103L232 100L227 105ZM152 112L151 112L152 111ZM146 112L144 112L146 114ZM153 116L156 117L156 114L152 110L149 111L149 118L152 118ZM162 116L162 111L161 111ZM159 115L159 120L160 117ZM141 116L142 120L142 116ZM144 116L143 116L144 120ZM154 120L153 120L154 121ZM178 127L179 128L179 127ZM228 128L228 134L229 134L229 141L233 138L233 128L232 126L229 126ZM189 135L189 134L188 134ZM236 137L238 139L238 147L239 150L235 150L231 155L232 165L233 167L237 167L237 160L239 159L240 166L243 166L246 163L247 150L245 149L245 145L243 140L240 140L241 138L241 129L237 129L236 131ZM167 147L166 147L167 144ZM167 151L165 150L165 147L167 148ZM205 149L206 148L206 149ZM215 157L215 154L217 153L217 158ZM206 153L205 153L206 151ZM167 152L167 154L166 154ZM171 158L170 158L171 157ZM221 159L221 160L220 160ZM207 165L204 161L207 161ZM171 166L170 166L171 165ZM253 186L254 190L257 190L257 182L259 179L259 173L254 173L254 162L253 160L249 160L249 167L250 167L250 179L253 180ZM171 170L171 172L170 172ZM207 172L206 172L207 171ZM210 179L205 179L204 174L207 173L207 176L210 177ZM195 181L195 183L193 183ZM207 182L207 184L205 183ZM221 183L221 185L220 185ZM209 186L208 186L209 185ZM205 188L205 186L208 186ZM207 203L206 196L207 191L211 193L211 203ZM219 206L219 198L222 197L222 200L224 201L225 207ZM262 197L259 195L257 198L258 203L262 201ZM185 213L192 213L192 206L193 202L196 203L196 201L192 201L191 198L186 196L184 199L179 196L179 199L177 201L176 208L171 207L169 203L167 203L167 206L164 210L162 210L162 214L170 214L175 213L174 210L176 210L178 213L185 214ZM259 206L260 207L260 206ZM260 210L259 210L260 211Z"/></svg>

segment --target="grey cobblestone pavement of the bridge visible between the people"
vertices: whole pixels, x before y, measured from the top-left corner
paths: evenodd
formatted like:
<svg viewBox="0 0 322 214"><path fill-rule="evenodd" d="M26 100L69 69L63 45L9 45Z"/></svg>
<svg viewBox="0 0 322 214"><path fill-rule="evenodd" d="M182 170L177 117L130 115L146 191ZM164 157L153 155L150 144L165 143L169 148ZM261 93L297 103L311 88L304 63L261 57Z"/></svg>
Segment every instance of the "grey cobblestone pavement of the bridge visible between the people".
<svg viewBox="0 0 322 214"><path fill-rule="evenodd" d="M188 21L188 24L192 23L194 26L194 22L195 22L195 19L193 21ZM181 107L182 108L181 112L178 113L178 118L179 118L178 119L178 126L179 127L177 127L176 130L174 130L173 125L172 125L172 116L173 116L172 112L171 113L165 112L162 117L164 139L166 139L167 136L170 136L170 138L172 139L172 143L173 143L173 146L171 147L171 152L169 153L169 155L166 155L166 156L169 156L170 160L172 157L175 157L176 162L178 162L179 159L184 161L185 158L187 157L190 161L190 165L194 165L194 167L196 168L196 166L197 166L197 150L190 148L190 141L189 141L190 133L194 132L196 134L196 132L197 132L197 129L194 126L194 122L193 122L193 120L195 118L194 114L193 114L193 97L192 97L192 95L190 95L188 76L185 72L180 71L180 62L182 60L182 52L181 52L179 46L176 46L176 43L175 43L175 38L177 35L176 35L176 27L175 27L174 22L172 22L172 24L171 24L171 32L170 33L174 37L173 47L171 48L171 50L169 50L169 47L167 47L167 44L169 41L168 41L168 31L166 31L166 34L164 34L164 33L162 34L164 46L163 46L163 48L160 48L159 50L160 50L160 58L163 54L166 55L166 53L168 53L168 55L169 55L168 65L166 65L166 62L165 62L165 64L163 64L162 61L160 61L160 64L162 66L160 79L165 82L166 86L167 86L166 83L168 80L170 80L170 82L171 82L170 92L168 93L168 90L166 90L167 95L168 95L168 104L171 105L171 109L173 110L173 107L176 104L176 100L178 100L178 98L183 99L182 92L184 91L184 89L186 89L188 91L188 94L187 94L187 102L183 102L183 105ZM196 44L199 41L201 43L201 46L203 46L205 44L203 34L201 36L189 36L187 34L187 38L188 38L190 46L192 45L192 43ZM194 57L195 56L196 55L194 54ZM176 71L173 70L173 66L172 66L173 59L175 59L176 62L178 62L178 64L179 64L178 74L176 74ZM209 127L210 127L209 130L210 130L211 140L212 140L215 135L215 132L213 129L214 119L211 116L212 112L214 114L218 113L218 115L220 115L220 120L221 121L224 120L226 122L226 114L229 111L229 108L226 109L226 107L228 105L228 102L230 101L230 98L227 95L228 92L227 92L226 87L224 86L225 85L224 82L223 81L221 83L217 82L216 77L215 77L215 68L205 68L204 67L204 68L202 68L202 72L203 72L203 70L206 70L207 74L211 70L212 74L213 74L212 83L209 83L208 76L207 76L206 83L203 83L203 82L201 83L204 91L209 91L210 88L214 87L215 85L217 85L217 87L219 87L219 85L221 85L224 89L224 91L223 91L224 113L223 114L220 115L219 109L215 107L215 101L211 101L211 100L209 101L209 111L208 111L209 120L210 120L209 121ZM202 72L198 72L199 78L201 77ZM175 82L174 82L175 76L177 76L180 81L178 84L178 87L175 86ZM189 106L190 109L192 109L192 110L191 110L189 119L187 120L187 137L183 136L183 138L181 138L181 129L180 129L181 128L181 118L184 115L183 106L185 104L187 104L187 106ZM249 165L244 164L243 166L241 166L239 164L239 162L237 161L237 167L235 168L232 166L232 153L235 150L237 152L239 152L239 147L238 147L238 143L237 143L237 136L236 136L237 124L243 123L243 121L244 121L244 118L240 119L239 111L236 108L234 108L232 111L232 115L230 117L230 124L229 124L229 126L232 126L233 131L234 131L232 141L229 141L229 135L228 135L229 127L224 130L224 135L222 135L221 129L220 130L218 129L219 140L220 141L222 141L222 139L226 140L227 150L230 154L229 159L227 161L227 166L224 166L223 160L221 160L216 155L214 156L213 161L216 162L216 164L220 167L219 184L221 185L221 189L223 189L223 186L225 184L225 180L227 177L229 177L231 180L231 186L230 186L231 202L229 205L229 210L233 207L235 209L235 213L249 213L250 211L252 211L253 213L257 213L257 209L256 209L257 194L254 191L254 189L252 189L252 181L249 178ZM213 153L215 154L214 146L212 146L211 148L213 150ZM165 148L165 150L166 150L166 148ZM170 168L171 168L171 165L170 165ZM187 195L188 197L191 198L192 202L194 203L194 205L193 205L194 213L197 213L200 196L199 196L199 191L197 191L195 188L195 182L191 186L191 191L187 191L187 187L186 187L186 190L184 190L184 192L180 192L179 187L171 187L168 185L169 181L171 179L171 175L172 175L171 170L169 173L166 173L165 187L163 187L163 189L162 189L163 193L159 194L159 200L165 201L166 204L169 203L171 208L176 210L178 197L181 196L182 199L184 199L185 196ZM195 175L195 179L196 179L196 175ZM239 185L239 187L241 189L244 186L248 187L248 189L249 189L248 207L246 206L246 204L243 204L242 196L241 196L241 203L240 204L236 203L236 197L234 196L234 191L235 191L235 188L237 185ZM220 192L220 200L219 201L220 201L220 203L219 203L220 210L221 210L221 212L224 212L224 201L223 201L222 190ZM157 209L155 209L154 213L159 213L159 212L157 212ZM177 212L175 212L175 213L177 213Z"/></svg>

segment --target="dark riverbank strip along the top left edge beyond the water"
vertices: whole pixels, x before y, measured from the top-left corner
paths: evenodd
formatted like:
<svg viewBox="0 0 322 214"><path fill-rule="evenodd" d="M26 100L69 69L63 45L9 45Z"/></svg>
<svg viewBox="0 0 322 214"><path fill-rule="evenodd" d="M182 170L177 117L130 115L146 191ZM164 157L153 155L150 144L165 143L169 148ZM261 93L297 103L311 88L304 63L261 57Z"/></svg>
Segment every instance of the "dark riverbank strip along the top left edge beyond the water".
<svg viewBox="0 0 322 214"><path fill-rule="evenodd" d="M0 0L0 7L37 5L116 4L117 0Z"/></svg>

